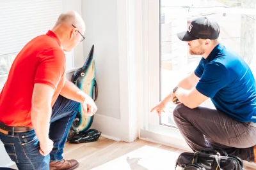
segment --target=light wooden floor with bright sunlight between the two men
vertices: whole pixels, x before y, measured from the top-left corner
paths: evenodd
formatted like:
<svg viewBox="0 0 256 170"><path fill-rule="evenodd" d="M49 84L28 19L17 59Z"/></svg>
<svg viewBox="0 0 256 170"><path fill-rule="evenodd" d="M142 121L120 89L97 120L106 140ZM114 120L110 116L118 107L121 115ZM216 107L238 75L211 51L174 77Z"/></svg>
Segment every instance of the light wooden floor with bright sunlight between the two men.
<svg viewBox="0 0 256 170"><path fill-rule="evenodd" d="M184 151L143 140L125 143L100 138L95 143L66 143L63 157L76 159L80 164L77 170L170 170L181 152Z"/></svg>

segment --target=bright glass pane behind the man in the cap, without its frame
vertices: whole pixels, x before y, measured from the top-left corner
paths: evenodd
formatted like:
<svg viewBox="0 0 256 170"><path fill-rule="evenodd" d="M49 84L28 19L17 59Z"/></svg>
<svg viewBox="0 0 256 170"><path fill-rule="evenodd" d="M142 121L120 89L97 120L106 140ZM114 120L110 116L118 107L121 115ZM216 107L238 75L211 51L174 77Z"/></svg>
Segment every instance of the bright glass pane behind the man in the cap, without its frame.
<svg viewBox="0 0 256 170"><path fill-rule="evenodd" d="M186 74L195 71L202 56L190 55L188 45L180 41L176 34L186 30L191 20L197 17L208 17L216 20L221 27L220 41L225 46L239 53L244 60L252 65L253 56L256 55L253 37L256 36L255 18L243 13L228 13L218 11L200 11L200 7L191 9L161 5L161 99L175 87ZM226 6L229 1L212 1L211 6ZM244 1L245 2L245 1ZM206 5L206 4L205 4ZM241 8L241 4L230 4ZM202 4L201 4L202 6ZM209 8L214 8L209 6ZM232 7L232 6L231 6ZM195 9L195 10L193 10ZM164 17L163 17L164 16ZM163 20L164 18L164 20ZM252 67L253 69L253 67ZM202 104L214 107L211 100ZM172 120L172 111L175 106L170 103L168 114L161 117L160 124L175 126Z"/></svg>

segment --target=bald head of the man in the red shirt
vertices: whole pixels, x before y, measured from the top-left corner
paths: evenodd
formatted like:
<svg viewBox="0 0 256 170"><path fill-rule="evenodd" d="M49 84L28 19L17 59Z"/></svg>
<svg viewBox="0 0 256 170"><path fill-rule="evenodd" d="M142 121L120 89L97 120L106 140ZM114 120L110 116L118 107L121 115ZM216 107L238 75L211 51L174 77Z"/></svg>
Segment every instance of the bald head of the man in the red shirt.
<svg viewBox="0 0 256 170"><path fill-rule="evenodd" d="M85 24L76 11L61 13L52 31L61 41L63 50L72 50L84 39Z"/></svg>

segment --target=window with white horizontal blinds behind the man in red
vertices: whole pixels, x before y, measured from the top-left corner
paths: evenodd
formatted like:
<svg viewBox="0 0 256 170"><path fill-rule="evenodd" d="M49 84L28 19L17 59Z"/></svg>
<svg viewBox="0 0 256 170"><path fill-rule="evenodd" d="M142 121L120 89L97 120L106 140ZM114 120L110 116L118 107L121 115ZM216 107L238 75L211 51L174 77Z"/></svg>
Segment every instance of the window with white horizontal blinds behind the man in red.
<svg viewBox="0 0 256 170"><path fill-rule="evenodd" d="M51 29L63 11L63 0L0 1L0 90L17 53L26 43ZM67 69L74 68L72 52Z"/></svg>

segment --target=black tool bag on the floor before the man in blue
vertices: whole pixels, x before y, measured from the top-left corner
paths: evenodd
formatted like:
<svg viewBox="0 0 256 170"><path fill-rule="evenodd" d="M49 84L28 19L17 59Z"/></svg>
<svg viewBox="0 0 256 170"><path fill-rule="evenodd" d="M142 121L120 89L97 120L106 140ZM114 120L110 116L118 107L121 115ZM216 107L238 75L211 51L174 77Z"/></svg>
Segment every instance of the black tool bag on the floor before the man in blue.
<svg viewBox="0 0 256 170"><path fill-rule="evenodd" d="M243 170L243 161L223 150L207 149L195 153L181 153L175 169L177 166L184 170Z"/></svg>

